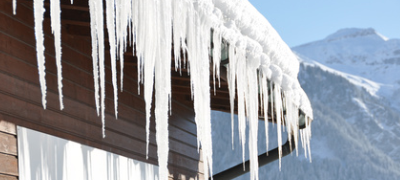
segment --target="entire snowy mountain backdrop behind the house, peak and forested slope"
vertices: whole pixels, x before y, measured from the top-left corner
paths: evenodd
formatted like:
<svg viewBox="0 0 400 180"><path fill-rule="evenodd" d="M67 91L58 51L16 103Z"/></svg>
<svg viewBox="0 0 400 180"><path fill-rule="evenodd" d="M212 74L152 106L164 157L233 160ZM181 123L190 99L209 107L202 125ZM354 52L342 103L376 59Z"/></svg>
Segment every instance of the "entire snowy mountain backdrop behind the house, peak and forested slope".
<svg viewBox="0 0 400 180"><path fill-rule="evenodd" d="M399 49L400 40L373 29L339 30L293 48L314 109L312 163L300 147L299 157L283 158L281 171L278 162L261 167L260 179L400 179ZM260 153L265 152L263 124ZM270 125L270 148L277 144L275 129ZM214 173L241 162L238 138L234 151L230 138L230 115L214 112Z"/></svg>

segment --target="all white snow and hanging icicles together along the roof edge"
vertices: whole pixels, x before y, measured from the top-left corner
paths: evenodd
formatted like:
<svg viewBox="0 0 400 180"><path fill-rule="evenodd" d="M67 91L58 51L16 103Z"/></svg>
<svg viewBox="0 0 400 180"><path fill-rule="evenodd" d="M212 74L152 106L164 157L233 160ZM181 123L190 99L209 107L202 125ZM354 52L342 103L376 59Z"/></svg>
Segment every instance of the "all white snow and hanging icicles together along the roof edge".
<svg viewBox="0 0 400 180"><path fill-rule="evenodd" d="M51 0L50 10L51 26L55 36L60 107L62 109L61 34L59 33L61 8L59 1ZM284 123L287 128L286 132L294 134L297 145L298 109L300 108L306 116L312 119L310 102L297 80L299 62L275 29L248 1L107 0L105 1L106 15L103 12L103 0L88 1L96 110L102 117L103 135L105 137L105 32L103 19L106 18L110 43L115 116L118 117L116 63L117 60L120 61L121 72L123 72L124 51L127 47L132 46L132 43L135 43L135 51L138 57L138 81L144 85L147 142L153 87L155 87L156 140L160 179L168 179L168 117L171 100L170 57L172 55L172 44L175 47L174 55L177 67L178 64L181 64L182 59L180 50L183 49L188 55L198 144L202 147L204 177L206 179L208 179L209 173L211 175L213 173L209 83L211 42L214 44L212 66L217 78L219 78L221 41L225 39L229 43L227 69L231 110L233 112L234 98L237 93L239 136L243 155L247 123L250 128L251 179L258 179L257 126L259 107L264 114L267 114L268 105L272 105L270 109L274 110L271 111L271 114L272 118L276 117L278 134L282 133L280 124ZM13 6L15 12L16 4L13 3ZM43 6L43 0L34 0L38 70L43 107L46 108ZM126 29L129 31L126 31ZM212 33L211 29L213 30ZM171 39L171 37L173 38ZM213 37L213 40L204 37ZM122 89L123 73L120 74L120 88ZM284 95L285 98L281 95ZM259 96L261 102L259 102ZM282 101L282 99L285 100ZM283 113L285 110L286 113ZM306 118L306 121L308 120L309 118ZM265 122L268 123L268 121ZM305 130L300 130L302 145L306 151L307 148L309 150L310 129L310 127L307 127ZM278 137L278 144L281 151L281 136Z"/></svg>

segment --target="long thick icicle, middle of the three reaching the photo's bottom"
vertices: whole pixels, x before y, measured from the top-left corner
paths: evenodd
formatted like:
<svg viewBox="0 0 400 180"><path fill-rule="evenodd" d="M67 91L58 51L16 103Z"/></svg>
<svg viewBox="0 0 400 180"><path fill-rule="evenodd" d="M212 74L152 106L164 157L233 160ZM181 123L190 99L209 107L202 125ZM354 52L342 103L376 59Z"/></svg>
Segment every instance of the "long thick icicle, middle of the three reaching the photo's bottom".
<svg viewBox="0 0 400 180"><path fill-rule="evenodd" d="M207 11L206 2L199 2L195 10ZM190 7L191 8L191 7ZM196 13L188 9L188 60L190 61L190 82L193 94L195 122L197 125L198 145L202 147L204 179L212 174L212 140L210 108L210 24L205 18L207 13ZM200 17L198 17L200 16ZM198 147L199 147L198 146Z"/></svg>

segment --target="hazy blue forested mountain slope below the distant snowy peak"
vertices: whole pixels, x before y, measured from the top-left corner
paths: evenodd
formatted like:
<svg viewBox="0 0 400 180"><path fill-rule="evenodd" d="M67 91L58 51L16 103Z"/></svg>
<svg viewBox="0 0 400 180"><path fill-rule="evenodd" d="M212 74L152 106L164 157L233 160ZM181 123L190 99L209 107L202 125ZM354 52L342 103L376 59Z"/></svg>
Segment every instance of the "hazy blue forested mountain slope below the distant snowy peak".
<svg viewBox="0 0 400 180"><path fill-rule="evenodd" d="M398 136L382 129L367 109L390 108L360 86L318 65L302 62L299 79L309 94L314 108L312 124L312 163L304 158L302 147L278 162L260 168L260 179L397 179L400 177ZM357 99L357 100L355 100ZM360 106L365 102L365 106ZM372 106L371 106L372 105ZM381 112L370 110L374 116ZM399 119L395 111L387 111L383 119ZM215 173L241 162L238 138L235 150L230 143L230 115L213 113L213 145ZM393 126L387 125L387 126ZM264 122L259 124L259 152L265 152ZM393 126L394 127L394 126ZM396 128L394 128L396 129ZM236 130L237 132L237 130ZM276 125L270 125L270 149L275 148ZM390 138L392 139L390 139ZM387 140L382 139L389 138ZM392 152L390 156L387 152ZM238 179L248 179L245 175Z"/></svg>

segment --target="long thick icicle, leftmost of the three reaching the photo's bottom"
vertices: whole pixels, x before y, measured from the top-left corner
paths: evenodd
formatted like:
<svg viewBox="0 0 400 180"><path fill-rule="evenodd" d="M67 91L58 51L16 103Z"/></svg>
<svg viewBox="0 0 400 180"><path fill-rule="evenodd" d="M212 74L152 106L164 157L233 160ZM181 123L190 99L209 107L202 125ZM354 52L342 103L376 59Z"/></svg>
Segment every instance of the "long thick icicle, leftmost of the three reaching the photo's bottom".
<svg viewBox="0 0 400 180"><path fill-rule="evenodd" d="M158 3L157 27L159 38L155 63L155 119L159 179L168 179L168 111L171 97L171 1Z"/></svg>

